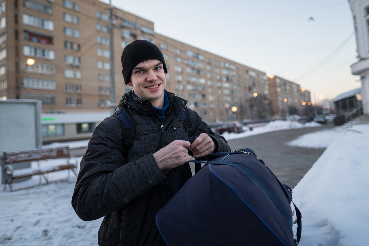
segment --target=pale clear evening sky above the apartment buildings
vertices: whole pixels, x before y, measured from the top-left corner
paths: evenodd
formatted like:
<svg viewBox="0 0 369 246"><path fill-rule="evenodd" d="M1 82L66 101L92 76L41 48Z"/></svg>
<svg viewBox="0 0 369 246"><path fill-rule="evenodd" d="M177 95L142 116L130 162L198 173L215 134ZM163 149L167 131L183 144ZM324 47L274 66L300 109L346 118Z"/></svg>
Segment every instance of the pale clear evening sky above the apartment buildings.
<svg viewBox="0 0 369 246"><path fill-rule="evenodd" d="M108 3L108 1L104 1ZM118 1L154 31L310 90L313 103L359 88L348 1ZM312 17L313 20L309 21Z"/></svg>

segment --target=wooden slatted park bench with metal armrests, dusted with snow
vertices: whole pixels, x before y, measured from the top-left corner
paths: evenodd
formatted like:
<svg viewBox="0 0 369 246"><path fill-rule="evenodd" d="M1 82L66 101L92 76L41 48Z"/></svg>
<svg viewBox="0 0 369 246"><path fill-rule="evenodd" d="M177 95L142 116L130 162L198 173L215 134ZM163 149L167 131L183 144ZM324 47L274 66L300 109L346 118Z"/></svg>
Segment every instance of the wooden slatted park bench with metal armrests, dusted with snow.
<svg viewBox="0 0 369 246"><path fill-rule="evenodd" d="M48 160L48 159L59 159L59 158L67 158L67 161L58 164L52 165L50 167L40 167L40 161ZM70 163L70 160L74 159L75 164ZM23 168L19 170L13 170L11 164L22 163L26 161L38 161L37 168ZM6 189L6 185L9 186L10 191L13 190L12 184L13 180L20 178L32 177L34 175L40 175L40 184L41 184L41 176L44 177L46 183L48 183L48 179L45 174L49 172L68 170L68 178L69 178L69 170L77 176L76 168L77 168L77 158L74 156L70 156L69 147L56 147L56 148L28 148L23 150L11 150L4 151L4 164L5 167L3 169L3 180L4 180L4 190Z"/></svg>

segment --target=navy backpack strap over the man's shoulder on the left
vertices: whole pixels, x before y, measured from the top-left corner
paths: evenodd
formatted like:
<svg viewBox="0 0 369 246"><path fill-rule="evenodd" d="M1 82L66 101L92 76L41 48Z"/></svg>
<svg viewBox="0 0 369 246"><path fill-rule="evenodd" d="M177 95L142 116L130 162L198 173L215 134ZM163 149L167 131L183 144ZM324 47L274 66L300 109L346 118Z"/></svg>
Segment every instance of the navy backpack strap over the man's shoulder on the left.
<svg viewBox="0 0 369 246"><path fill-rule="evenodd" d="M121 107L113 116L120 119L122 123L123 147L128 149L132 146L132 139L136 134L135 121L125 107Z"/></svg>

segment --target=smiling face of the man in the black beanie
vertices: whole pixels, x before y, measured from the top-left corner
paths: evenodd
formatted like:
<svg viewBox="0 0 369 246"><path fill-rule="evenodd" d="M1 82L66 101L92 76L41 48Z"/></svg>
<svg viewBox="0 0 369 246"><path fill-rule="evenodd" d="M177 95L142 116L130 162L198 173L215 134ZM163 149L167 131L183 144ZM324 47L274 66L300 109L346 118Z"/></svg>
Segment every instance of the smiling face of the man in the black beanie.
<svg viewBox="0 0 369 246"><path fill-rule="evenodd" d="M157 59L149 59L137 64L127 85L132 86L135 94L142 99L155 100L164 98L166 73L163 63Z"/></svg>

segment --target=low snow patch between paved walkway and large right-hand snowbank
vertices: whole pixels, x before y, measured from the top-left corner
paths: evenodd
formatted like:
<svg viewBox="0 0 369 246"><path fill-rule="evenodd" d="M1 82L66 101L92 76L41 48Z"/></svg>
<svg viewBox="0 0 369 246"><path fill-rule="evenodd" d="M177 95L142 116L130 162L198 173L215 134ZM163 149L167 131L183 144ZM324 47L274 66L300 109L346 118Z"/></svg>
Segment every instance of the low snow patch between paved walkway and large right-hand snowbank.
<svg viewBox="0 0 369 246"><path fill-rule="evenodd" d="M328 148L342 131L344 131L344 129L335 127L329 130L307 133L290 141L287 145L306 148Z"/></svg>

